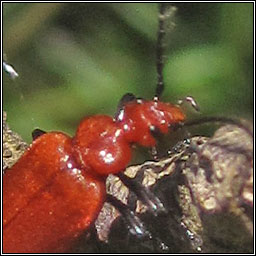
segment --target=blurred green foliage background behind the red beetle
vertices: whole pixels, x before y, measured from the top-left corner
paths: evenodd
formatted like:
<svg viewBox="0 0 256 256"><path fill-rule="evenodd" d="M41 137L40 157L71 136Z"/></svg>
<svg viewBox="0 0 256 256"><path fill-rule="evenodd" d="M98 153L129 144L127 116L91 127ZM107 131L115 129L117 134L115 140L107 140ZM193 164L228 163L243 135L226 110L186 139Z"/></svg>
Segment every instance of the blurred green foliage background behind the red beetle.
<svg viewBox="0 0 256 256"><path fill-rule="evenodd" d="M164 101L187 95L201 113L253 116L253 3L176 3L166 37ZM152 98L154 3L4 3L3 48L19 73L3 78L8 123L74 134L85 115L113 115L123 94Z"/></svg>

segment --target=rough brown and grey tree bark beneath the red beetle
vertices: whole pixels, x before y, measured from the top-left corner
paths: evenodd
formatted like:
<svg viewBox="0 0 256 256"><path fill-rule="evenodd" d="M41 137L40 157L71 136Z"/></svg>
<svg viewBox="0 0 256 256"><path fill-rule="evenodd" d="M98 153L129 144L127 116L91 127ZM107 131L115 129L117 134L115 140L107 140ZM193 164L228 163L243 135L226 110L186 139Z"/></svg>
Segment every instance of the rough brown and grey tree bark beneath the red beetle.
<svg viewBox="0 0 256 256"><path fill-rule="evenodd" d="M106 202L95 229L73 252L252 253L251 130L249 123L225 125L211 138L196 136L179 142L163 159L128 167L125 175L163 202L167 212L159 216L153 216L118 177L110 175L108 193L133 208L152 237L131 235L118 210ZM8 127L4 113L3 173L27 147Z"/></svg>

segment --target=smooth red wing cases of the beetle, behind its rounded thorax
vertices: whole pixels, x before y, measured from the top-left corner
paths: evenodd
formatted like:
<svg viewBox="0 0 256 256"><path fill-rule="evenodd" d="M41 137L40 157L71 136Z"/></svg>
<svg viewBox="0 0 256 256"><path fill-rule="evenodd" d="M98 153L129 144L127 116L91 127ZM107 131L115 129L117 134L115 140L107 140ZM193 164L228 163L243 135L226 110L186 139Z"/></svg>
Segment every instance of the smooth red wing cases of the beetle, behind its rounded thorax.
<svg viewBox="0 0 256 256"><path fill-rule="evenodd" d="M70 137L40 136L3 178L3 252L66 252L105 193L104 180L76 166Z"/></svg>

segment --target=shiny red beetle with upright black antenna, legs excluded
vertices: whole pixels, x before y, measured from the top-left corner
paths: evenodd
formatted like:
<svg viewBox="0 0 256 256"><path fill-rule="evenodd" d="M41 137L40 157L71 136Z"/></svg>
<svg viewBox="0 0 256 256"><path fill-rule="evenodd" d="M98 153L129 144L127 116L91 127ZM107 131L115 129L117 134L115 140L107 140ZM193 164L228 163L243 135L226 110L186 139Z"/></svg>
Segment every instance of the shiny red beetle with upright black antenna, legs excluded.
<svg viewBox="0 0 256 256"><path fill-rule="evenodd" d="M106 177L125 169L131 145L153 147L154 131L166 134L170 125L185 120L179 106L158 100L163 90L161 15L155 99L127 94L114 118L87 117L73 138L61 132L43 134L6 172L4 253L67 251L97 218L106 198Z"/></svg>

